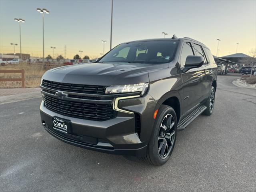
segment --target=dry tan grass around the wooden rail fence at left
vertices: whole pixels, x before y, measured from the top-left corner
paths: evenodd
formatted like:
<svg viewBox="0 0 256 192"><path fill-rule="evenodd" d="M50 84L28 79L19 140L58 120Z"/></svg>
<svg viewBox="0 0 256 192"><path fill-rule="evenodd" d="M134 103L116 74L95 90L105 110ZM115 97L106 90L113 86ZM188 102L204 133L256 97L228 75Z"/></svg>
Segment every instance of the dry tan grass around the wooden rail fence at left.
<svg viewBox="0 0 256 192"><path fill-rule="evenodd" d="M39 87L41 77L47 70L51 68L58 67L58 65L46 66L45 70L42 70L42 64L8 64L5 66L0 66L0 70L21 70L24 69L26 88L36 88ZM0 73L0 78L21 78L20 73ZM0 88L18 88L21 87L21 82L0 82Z"/></svg>

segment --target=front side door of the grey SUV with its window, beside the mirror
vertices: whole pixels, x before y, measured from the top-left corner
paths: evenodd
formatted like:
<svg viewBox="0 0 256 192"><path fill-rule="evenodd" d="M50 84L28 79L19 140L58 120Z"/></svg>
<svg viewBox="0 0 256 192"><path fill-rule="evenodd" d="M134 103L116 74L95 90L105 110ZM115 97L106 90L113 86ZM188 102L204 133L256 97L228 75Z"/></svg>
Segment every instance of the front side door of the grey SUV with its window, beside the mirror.
<svg viewBox="0 0 256 192"><path fill-rule="evenodd" d="M186 41L182 45L182 51L180 55L180 68L183 70L186 62L186 58L189 55L195 55L192 48L192 43ZM200 68L190 69L187 72L181 74L183 81L183 96L182 105L184 106L184 115L186 116L192 111L197 105L200 97L200 91L202 87L202 80L200 76L202 71Z"/></svg>

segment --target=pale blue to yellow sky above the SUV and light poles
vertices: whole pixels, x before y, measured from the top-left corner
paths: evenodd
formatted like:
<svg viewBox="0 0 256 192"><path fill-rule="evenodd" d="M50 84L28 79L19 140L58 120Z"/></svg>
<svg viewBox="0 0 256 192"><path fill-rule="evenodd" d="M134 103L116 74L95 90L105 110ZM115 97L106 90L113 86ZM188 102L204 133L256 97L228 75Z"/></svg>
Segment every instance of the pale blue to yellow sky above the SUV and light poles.
<svg viewBox="0 0 256 192"><path fill-rule="evenodd" d="M103 52L101 40L110 48L110 0L0 0L0 53L12 53L10 43L20 44L22 23L22 52L42 56L42 15L36 8L47 8L45 15L45 55L58 54L72 58L74 54L90 57ZM256 47L256 1L146 1L114 0L112 47L122 42L147 38L162 38L176 34L191 37L208 46L216 55L238 52L249 54ZM20 52L19 45L16 52Z"/></svg>

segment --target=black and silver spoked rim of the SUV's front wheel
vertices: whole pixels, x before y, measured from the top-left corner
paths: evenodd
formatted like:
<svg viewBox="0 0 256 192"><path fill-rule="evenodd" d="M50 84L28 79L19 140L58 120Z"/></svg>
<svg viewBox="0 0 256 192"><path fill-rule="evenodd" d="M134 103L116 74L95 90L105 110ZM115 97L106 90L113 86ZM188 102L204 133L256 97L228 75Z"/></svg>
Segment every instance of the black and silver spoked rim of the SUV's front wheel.
<svg viewBox="0 0 256 192"><path fill-rule="evenodd" d="M158 134L158 154L165 159L169 156L175 141L175 123L171 114L167 114L160 124Z"/></svg>

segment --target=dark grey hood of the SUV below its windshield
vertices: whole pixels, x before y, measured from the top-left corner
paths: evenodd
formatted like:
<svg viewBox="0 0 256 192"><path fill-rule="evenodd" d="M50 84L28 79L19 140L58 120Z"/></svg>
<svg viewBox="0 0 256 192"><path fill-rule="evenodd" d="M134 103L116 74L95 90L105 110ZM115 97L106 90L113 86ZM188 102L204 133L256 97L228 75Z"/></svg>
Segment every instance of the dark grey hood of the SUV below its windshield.
<svg viewBox="0 0 256 192"><path fill-rule="evenodd" d="M148 72L167 68L168 64L87 63L48 70L43 79L87 85L122 85L149 82Z"/></svg>

